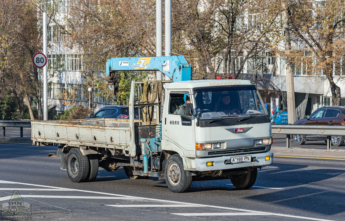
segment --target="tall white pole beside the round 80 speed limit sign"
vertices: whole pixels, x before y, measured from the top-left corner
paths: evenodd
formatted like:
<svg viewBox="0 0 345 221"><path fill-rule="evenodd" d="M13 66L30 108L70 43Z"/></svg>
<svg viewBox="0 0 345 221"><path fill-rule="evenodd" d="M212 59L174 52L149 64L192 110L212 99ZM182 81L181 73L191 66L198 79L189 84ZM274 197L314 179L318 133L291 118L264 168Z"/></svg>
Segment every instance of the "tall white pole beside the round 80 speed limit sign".
<svg viewBox="0 0 345 221"><path fill-rule="evenodd" d="M43 12L43 54L47 57L47 12ZM48 70L43 67L43 120L48 120Z"/></svg>

